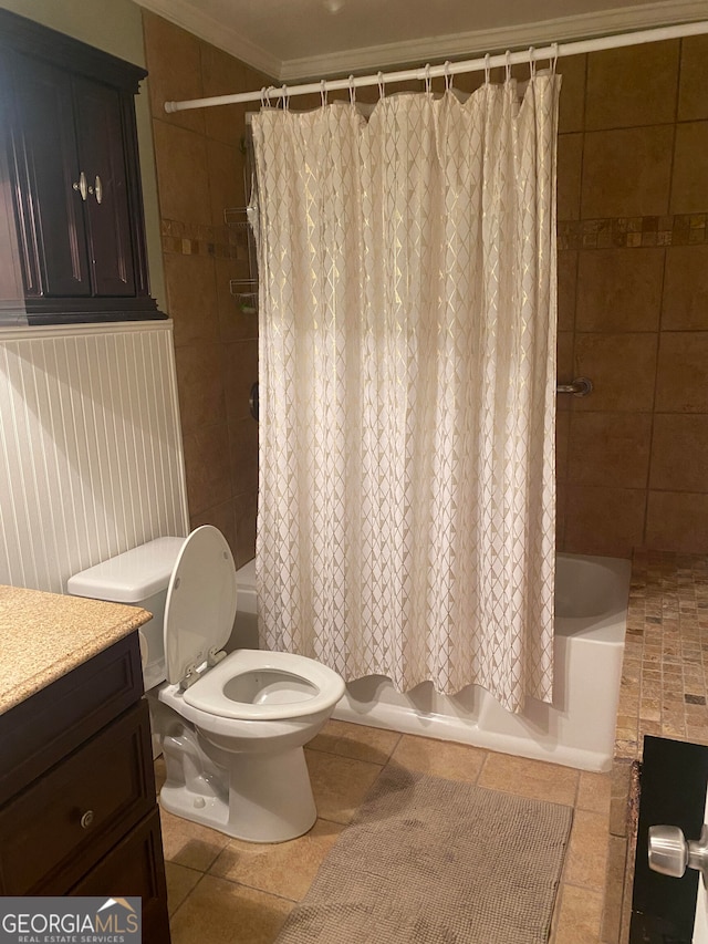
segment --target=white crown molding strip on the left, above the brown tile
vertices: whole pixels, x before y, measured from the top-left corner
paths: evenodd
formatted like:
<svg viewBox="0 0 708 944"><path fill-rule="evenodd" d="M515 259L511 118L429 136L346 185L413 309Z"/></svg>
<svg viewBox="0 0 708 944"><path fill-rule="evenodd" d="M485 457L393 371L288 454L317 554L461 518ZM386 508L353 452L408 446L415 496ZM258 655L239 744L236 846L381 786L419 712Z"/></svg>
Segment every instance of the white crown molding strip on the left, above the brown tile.
<svg viewBox="0 0 708 944"><path fill-rule="evenodd" d="M205 42L240 59L247 65L266 73L272 79L279 79L282 61L271 55L267 50L249 42L232 27L221 23L205 13L198 7L198 0L134 0L143 7L170 23L181 27Z"/></svg>

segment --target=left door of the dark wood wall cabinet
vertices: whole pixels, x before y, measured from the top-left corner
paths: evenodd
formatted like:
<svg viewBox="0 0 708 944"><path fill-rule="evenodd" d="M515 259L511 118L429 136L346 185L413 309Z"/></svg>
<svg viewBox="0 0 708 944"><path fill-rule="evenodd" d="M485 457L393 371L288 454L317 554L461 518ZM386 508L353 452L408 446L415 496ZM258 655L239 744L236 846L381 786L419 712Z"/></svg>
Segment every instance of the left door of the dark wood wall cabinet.
<svg viewBox="0 0 708 944"><path fill-rule="evenodd" d="M71 79L45 62L12 62L12 162L28 298L90 295Z"/></svg>

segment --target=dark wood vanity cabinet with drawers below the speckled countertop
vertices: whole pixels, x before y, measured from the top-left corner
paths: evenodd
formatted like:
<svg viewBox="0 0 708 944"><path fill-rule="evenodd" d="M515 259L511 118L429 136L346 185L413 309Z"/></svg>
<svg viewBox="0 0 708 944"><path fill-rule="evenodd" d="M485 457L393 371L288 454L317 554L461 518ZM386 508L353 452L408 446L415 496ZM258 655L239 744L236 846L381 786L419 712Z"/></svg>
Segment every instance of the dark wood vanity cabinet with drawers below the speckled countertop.
<svg viewBox="0 0 708 944"><path fill-rule="evenodd" d="M137 633L0 715L1 895L139 895L168 944Z"/></svg>

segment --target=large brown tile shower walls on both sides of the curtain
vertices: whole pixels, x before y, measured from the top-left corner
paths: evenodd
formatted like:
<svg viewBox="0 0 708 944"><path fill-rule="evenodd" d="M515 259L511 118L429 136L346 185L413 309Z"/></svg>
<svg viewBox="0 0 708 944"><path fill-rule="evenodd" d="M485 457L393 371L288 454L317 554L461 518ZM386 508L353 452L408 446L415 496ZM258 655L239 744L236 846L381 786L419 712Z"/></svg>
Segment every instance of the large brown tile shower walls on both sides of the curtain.
<svg viewBox="0 0 708 944"><path fill-rule="evenodd" d="M256 528L258 429L248 392L257 319L229 295L229 279L248 272L222 210L244 200L244 108L168 115L163 103L271 82L144 15L192 525L222 528L243 562ZM700 553L708 550L708 38L569 58L559 71L559 380L583 375L595 385L585 400L559 397L559 547ZM471 91L481 80L455 84ZM361 90L360 98L375 95ZM299 102L316 104L319 96Z"/></svg>

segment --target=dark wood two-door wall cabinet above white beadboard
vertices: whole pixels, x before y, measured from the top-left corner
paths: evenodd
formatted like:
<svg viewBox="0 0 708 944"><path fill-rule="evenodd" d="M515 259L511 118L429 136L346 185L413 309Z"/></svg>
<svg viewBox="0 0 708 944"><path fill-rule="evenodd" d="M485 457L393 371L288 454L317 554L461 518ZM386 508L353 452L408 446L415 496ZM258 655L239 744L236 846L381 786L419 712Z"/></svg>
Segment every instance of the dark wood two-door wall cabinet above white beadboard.
<svg viewBox="0 0 708 944"><path fill-rule="evenodd" d="M149 294L135 126L146 74L0 10L6 211L30 324L165 318Z"/></svg>

